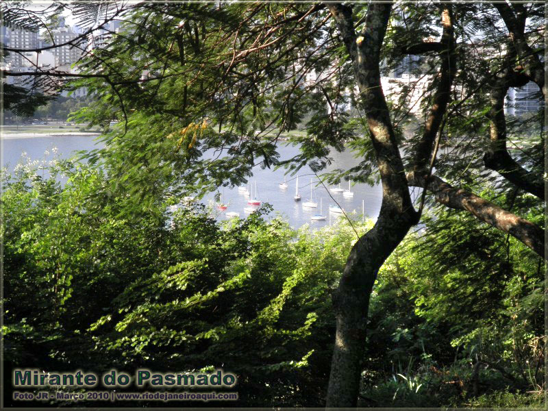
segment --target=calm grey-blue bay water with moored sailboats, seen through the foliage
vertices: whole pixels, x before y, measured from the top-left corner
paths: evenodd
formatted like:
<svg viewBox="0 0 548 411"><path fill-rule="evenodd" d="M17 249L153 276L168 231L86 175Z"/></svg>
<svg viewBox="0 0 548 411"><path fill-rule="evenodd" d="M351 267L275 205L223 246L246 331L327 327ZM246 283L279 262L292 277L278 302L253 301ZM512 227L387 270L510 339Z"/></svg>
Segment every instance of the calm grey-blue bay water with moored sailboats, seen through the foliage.
<svg viewBox="0 0 548 411"><path fill-rule="evenodd" d="M55 148L62 158L70 157L74 151L90 150L99 148L94 141L94 136L45 136L33 138L8 138L2 141L3 151L3 166L7 166L12 170L14 166L21 161L22 153L26 153L31 160L51 160L53 159L53 149ZM297 153L297 147L281 146L278 148L280 160L286 160ZM49 151L49 155L45 152ZM347 168L358 164L358 160L353 157L349 151L343 153L332 153L334 163L329 166L329 169ZM282 190L279 188L279 183L284 181L284 169L276 171L269 169L260 169L257 167L250 179L250 183L257 184L259 199L271 203L274 208L274 214L284 216L293 227L300 227L303 224L310 224L311 227L323 227L329 224L329 205L334 205L334 201L329 197L329 193L318 184L318 180L308 167L303 167L299 171L299 194L302 196L302 201L295 202L295 176L287 176L288 188ZM302 203L310 198L310 179L312 178L312 198L318 203L317 208L305 208ZM331 188L331 187L329 187ZM342 188L348 188L348 182L343 182ZM353 197L344 197L342 193L330 194L339 203L340 207L346 212L362 214L362 203L366 216L376 217L382 200L382 188L380 186L368 186L366 184L356 184L351 186ZM221 188L222 201L228 204L225 212L219 212L219 219L226 219L226 212L238 212L240 217L245 218L249 215L244 208L247 207L246 197L238 188ZM202 202L208 203L213 198L212 195L205 197ZM321 199L321 201L320 201ZM310 217L320 212L320 202L323 203L322 213L327 217L325 221L312 221ZM332 214L332 218L336 218L340 214Z"/></svg>

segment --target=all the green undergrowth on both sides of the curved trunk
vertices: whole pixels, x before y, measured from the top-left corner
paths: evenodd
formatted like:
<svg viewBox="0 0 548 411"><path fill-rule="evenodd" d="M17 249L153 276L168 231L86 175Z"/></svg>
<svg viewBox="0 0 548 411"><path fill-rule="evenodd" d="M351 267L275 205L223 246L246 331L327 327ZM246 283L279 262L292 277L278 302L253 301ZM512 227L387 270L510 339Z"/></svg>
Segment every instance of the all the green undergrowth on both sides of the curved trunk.
<svg viewBox="0 0 548 411"><path fill-rule="evenodd" d="M5 176L8 369L223 368L238 375L238 405L323 405L349 222L296 231L265 208L218 223L200 207L171 212L169 187L136 206L90 164L47 172ZM538 258L495 230L478 238L466 214L425 224L379 272L362 405L538 404Z"/></svg>

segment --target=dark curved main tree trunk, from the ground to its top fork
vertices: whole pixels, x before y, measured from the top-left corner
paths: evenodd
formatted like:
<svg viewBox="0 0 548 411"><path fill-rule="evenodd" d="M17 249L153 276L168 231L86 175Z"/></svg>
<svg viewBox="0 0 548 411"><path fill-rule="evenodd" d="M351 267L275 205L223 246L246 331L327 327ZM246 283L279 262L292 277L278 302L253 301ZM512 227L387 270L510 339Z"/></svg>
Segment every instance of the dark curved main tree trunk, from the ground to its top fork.
<svg viewBox="0 0 548 411"><path fill-rule="evenodd" d="M327 408L332 408L356 406L373 283L384 260L418 222L418 214L412 206L380 82L380 48L392 6L371 3L360 36L354 31L349 6L330 3L327 7L353 62L360 104L366 114L383 188L377 223L352 248L334 293L337 329L326 401Z"/></svg>

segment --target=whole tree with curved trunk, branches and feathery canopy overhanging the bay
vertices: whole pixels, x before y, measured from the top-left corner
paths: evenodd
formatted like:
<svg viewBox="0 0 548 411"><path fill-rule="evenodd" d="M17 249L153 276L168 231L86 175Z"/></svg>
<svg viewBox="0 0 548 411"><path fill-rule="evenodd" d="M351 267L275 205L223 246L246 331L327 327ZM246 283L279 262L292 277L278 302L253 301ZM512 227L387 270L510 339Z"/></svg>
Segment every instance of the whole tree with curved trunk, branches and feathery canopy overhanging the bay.
<svg viewBox="0 0 548 411"><path fill-rule="evenodd" d="M253 166L325 171L330 153L345 147L360 164L324 173L327 182L382 183L375 226L351 247L334 292L338 343L327 406L356 405L375 277L423 211L440 210L434 203L544 257L537 214L545 199L543 123L540 113L507 118L503 110L511 87L532 81L546 95L540 3L99 3L75 10L104 16L90 20L90 35L112 18L121 29L84 55L82 73L33 75L79 77L69 87L86 86L98 101L75 119L120 121L105 129L105 149L88 155L124 199L119 216L241 184ZM381 76L402 65L425 79L420 103L410 98L412 82L395 98L384 95ZM306 136L289 134L299 155L279 158L279 137L305 118ZM417 204L410 187L423 189ZM483 266L495 242L476 239L481 252L469 258ZM447 251L458 265L459 240L449 246L440 236L431 252ZM484 268L493 281L508 273L501 261ZM450 273L446 280L440 289L452 289ZM501 297L502 288L478 283L474 290ZM471 298L473 290L461 292Z"/></svg>

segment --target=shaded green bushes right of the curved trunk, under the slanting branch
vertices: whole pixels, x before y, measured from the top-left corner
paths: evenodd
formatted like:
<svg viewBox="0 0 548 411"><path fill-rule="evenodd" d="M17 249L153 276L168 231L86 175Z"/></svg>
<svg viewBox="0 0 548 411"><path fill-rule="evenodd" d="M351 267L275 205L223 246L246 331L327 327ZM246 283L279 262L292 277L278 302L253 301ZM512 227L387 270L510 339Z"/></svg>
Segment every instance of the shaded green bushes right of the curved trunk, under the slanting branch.
<svg viewBox="0 0 548 411"><path fill-rule="evenodd" d="M362 406L538 406L542 260L469 214L424 221L379 273Z"/></svg>

